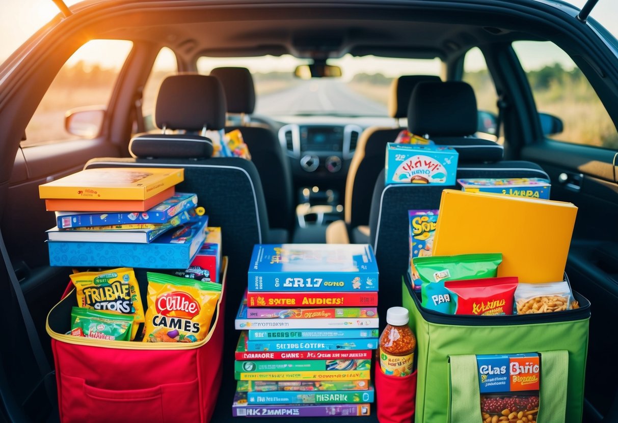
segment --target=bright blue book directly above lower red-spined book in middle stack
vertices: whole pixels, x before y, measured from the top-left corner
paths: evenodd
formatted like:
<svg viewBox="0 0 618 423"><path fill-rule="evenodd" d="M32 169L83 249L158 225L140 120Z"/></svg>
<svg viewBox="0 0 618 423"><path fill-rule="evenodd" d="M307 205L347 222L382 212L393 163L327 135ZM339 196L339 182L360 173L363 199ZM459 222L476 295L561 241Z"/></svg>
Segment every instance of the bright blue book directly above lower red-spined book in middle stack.
<svg viewBox="0 0 618 423"><path fill-rule="evenodd" d="M378 338L365 339L291 339L247 340L247 351L324 351L324 350L375 350Z"/></svg>

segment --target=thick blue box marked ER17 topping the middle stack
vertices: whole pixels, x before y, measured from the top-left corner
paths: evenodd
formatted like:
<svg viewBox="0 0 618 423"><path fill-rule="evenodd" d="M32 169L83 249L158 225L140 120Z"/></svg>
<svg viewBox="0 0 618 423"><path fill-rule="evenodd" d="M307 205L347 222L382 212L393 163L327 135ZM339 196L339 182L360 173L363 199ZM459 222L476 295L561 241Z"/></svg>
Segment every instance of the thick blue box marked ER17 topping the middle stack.
<svg viewBox="0 0 618 423"><path fill-rule="evenodd" d="M258 244L248 290L377 291L378 266L368 244Z"/></svg>

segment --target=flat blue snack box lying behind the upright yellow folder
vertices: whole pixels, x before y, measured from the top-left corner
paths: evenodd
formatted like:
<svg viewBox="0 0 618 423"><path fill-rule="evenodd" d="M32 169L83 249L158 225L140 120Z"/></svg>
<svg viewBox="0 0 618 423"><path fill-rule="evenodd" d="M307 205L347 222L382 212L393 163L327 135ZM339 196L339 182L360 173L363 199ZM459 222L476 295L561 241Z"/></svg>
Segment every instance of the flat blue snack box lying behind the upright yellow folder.
<svg viewBox="0 0 618 423"><path fill-rule="evenodd" d="M551 183L542 178L477 178L457 179L466 192L494 192L515 197L531 197L549 200Z"/></svg>

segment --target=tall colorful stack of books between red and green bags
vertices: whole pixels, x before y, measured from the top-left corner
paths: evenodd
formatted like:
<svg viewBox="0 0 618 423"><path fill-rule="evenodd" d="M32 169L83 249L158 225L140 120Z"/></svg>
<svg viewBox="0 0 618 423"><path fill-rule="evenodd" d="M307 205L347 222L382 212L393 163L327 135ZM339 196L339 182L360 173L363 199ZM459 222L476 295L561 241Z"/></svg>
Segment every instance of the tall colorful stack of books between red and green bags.
<svg viewBox="0 0 618 423"><path fill-rule="evenodd" d="M234 416L368 416L378 347L369 245L256 245L235 321Z"/></svg>

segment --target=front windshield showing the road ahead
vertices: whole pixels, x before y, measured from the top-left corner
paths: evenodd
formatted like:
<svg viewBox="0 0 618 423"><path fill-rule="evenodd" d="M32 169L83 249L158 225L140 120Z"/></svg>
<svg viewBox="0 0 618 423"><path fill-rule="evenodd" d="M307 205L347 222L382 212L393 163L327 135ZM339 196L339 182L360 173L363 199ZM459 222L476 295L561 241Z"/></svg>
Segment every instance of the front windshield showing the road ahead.
<svg viewBox="0 0 618 423"><path fill-rule="evenodd" d="M255 113L279 117L375 116L387 117L387 101L392 78L399 75L440 75L439 59L390 59L345 55L329 65L341 67L341 78L295 78L297 65L307 60L291 55L219 59L201 57L198 72L208 75L213 68L240 66L252 72L256 90Z"/></svg>

